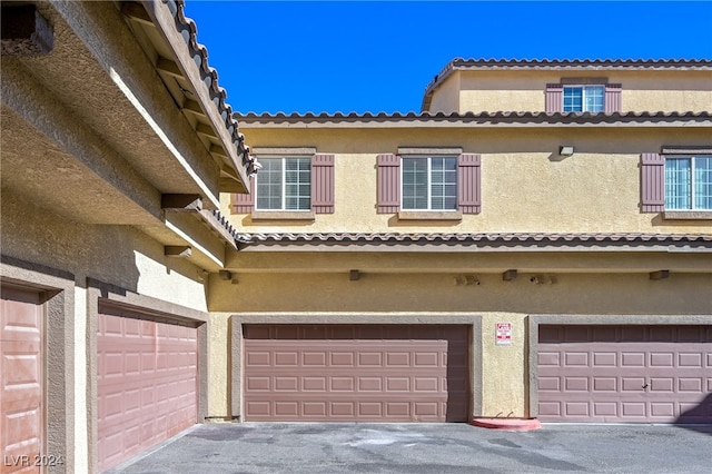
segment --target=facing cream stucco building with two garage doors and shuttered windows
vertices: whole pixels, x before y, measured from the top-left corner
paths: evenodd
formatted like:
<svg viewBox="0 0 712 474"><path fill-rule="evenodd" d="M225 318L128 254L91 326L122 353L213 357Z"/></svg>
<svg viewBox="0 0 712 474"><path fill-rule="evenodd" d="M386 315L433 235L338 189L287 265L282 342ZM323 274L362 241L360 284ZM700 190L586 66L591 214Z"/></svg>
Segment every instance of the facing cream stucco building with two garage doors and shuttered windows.
<svg viewBox="0 0 712 474"><path fill-rule="evenodd" d="M455 59L419 113L237 116L216 408L710 423L711 106L709 60Z"/></svg>

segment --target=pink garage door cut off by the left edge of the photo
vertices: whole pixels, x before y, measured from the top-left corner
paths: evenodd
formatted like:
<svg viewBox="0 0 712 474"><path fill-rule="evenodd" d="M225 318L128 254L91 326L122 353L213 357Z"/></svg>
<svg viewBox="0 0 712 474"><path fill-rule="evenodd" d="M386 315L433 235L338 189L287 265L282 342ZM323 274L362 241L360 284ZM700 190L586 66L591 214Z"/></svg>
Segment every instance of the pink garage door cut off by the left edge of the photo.
<svg viewBox="0 0 712 474"><path fill-rule="evenodd" d="M37 293L2 286L0 450L4 472L38 472L43 453L42 306Z"/></svg>

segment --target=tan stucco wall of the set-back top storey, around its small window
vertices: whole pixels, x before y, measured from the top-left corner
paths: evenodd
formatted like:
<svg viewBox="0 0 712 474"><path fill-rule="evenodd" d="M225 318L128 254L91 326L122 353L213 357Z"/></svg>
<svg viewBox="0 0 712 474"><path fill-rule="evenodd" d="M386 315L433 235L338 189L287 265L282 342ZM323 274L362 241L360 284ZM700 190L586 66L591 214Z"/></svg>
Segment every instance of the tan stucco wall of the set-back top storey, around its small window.
<svg viewBox="0 0 712 474"><path fill-rule="evenodd" d="M454 76L458 79L452 79ZM562 78L605 78L621 83L622 111L712 108L712 71L456 71L435 90L431 110L544 111L546 85ZM459 98L454 98L456 87Z"/></svg>

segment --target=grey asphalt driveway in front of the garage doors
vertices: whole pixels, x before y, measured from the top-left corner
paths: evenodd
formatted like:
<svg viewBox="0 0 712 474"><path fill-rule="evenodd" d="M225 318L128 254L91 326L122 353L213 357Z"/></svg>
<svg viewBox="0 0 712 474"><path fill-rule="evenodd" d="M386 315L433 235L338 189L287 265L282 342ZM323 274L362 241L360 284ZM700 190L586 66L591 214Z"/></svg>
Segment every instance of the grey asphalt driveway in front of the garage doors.
<svg viewBox="0 0 712 474"><path fill-rule="evenodd" d="M112 474L712 473L712 426L196 425Z"/></svg>

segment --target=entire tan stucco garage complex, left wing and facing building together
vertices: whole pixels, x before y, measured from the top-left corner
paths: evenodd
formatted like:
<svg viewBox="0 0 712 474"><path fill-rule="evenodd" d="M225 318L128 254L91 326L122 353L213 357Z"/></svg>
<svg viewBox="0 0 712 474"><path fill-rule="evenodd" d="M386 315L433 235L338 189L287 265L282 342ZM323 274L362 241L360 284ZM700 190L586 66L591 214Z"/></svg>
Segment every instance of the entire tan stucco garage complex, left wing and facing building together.
<svg viewBox="0 0 712 474"><path fill-rule="evenodd" d="M181 2L2 19L3 472L205 421L712 421L709 60L234 117Z"/></svg>

